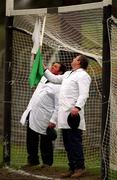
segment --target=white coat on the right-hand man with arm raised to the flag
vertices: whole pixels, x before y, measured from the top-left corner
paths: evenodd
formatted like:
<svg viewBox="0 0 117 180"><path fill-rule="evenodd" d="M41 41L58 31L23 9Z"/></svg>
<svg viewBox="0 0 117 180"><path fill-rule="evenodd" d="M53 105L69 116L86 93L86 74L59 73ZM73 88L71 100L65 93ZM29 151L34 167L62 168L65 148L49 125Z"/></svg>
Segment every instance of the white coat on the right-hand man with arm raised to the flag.
<svg viewBox="0 0 117 180"><path fill-rule="evenodd" d="M62 83L59 95L58 128L70 128L67 117L71 108L80 107L79 129L85 130L84 105L89 97L91 78L82 68L75 71L67 71L63 75L53 75L49 70L45 71L45 77L53 83Z"/></svg>

